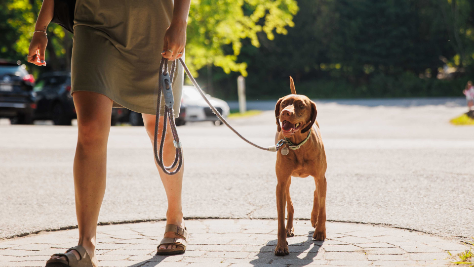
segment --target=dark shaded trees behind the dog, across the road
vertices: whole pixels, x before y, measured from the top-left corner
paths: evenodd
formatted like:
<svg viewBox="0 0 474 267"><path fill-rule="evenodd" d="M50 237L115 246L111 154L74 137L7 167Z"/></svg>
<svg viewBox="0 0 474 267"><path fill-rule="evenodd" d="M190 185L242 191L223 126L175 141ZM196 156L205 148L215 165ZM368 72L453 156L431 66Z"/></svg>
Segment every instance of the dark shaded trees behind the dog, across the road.
<svg viewBox="0 0 474 267"><path fill-rule="evenodd" d="M458 82L436 79L459 67L460 84L474 71L474 9L470 0L298 0L287 35L261 46L244 42L250 98L288 91L288 76L312 97L442 96ZM454 34L456 33L456 34ZM459 36L456 41L456 36ZM462 71L466 71L463 72ZM205 72L203 70L202 72ZM232 79L214 75L223 97ZM227 91L229 89L229 91Z"/></svg>

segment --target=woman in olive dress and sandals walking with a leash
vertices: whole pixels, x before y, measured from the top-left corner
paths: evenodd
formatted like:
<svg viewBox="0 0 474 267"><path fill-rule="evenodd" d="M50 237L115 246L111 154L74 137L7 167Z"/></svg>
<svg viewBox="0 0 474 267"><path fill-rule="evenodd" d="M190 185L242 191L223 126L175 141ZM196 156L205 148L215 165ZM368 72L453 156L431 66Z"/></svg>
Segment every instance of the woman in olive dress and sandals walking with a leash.
<svg viewBox="0 0 474 267"><path fill-rule="evenodd" d="M161 57L175 60L184 55L189 6L190 0L77 0L71 94L79 132L73 170L79 243L64 254L51 256L46 266L98 266L96 230L105 193L112 107L142 113L153 147L159 62ZM30 44L28 61L39 66L46 65L46 27L53 10L54 0L44 0ZM172 85L175 117L179 115L184 77L182 66L177 65ZM163 118L159 122L158 132ZM166 165L174 161L174 155L173 138L167 134L163 152ZM173 176L160 168L158 172L168 210L157 254L184 253L188 233L181 210L183 169Z"/></svg>

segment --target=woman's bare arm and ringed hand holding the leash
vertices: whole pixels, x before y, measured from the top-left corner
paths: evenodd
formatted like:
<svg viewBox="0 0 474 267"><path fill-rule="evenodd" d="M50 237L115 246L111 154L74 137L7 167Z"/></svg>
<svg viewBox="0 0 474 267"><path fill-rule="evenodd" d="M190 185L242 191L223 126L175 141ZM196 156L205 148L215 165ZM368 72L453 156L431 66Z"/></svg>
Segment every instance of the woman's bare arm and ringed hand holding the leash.
<svg viewBox="0 0 474 267"><path fill-rule="evenodd" d="M180 58L184 53L190 4L191 0L174 0L173 18L164 35L161 53L168 60Z"/></svg>

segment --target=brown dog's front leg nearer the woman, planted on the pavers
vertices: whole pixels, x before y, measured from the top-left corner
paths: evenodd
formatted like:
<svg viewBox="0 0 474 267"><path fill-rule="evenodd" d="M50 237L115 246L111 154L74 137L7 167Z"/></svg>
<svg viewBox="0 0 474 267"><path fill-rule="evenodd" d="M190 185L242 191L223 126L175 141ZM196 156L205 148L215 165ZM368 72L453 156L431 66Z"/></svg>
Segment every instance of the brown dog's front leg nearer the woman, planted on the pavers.
<svg viewBox="0 0 474 267"><path fill-rule="evenodd" d="M276 243L275 255L285 256L289 254L288 244L286 243L286 227L285 227L285 204L286 204L286 187L291 178L289 175L278 175L278 183L276 185L276 211L278 213L278 242Z"/></svg>

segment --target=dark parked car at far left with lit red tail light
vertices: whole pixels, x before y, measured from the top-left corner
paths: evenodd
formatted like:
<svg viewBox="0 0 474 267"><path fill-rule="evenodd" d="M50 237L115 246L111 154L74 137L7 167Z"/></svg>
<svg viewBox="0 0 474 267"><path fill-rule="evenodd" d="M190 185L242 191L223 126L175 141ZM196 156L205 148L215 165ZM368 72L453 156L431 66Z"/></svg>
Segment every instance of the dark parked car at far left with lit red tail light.
<svg viewBox="0 0 474 267"><path fill-rule="evenodd" d="M0 60L0 118L12 124L32 124L36 108L35 78L20 61Z"/></svg>

